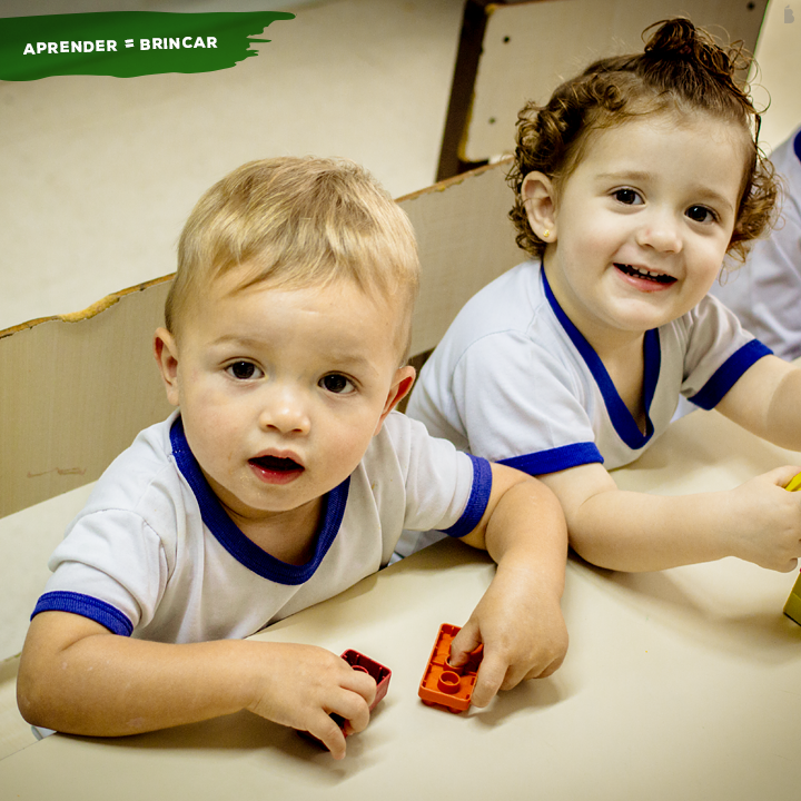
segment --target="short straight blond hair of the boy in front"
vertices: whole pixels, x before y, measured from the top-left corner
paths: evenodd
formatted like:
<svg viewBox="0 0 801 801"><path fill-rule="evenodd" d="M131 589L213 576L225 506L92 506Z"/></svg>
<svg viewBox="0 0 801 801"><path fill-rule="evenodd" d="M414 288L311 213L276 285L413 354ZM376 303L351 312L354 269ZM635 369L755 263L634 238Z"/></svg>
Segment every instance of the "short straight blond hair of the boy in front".
<svg viewBox="0 0 801 801"><path fill-rule="evenodd" d="M165 305L176 335L198 293L245 267L239 289L284 289L354 281L399 301L405 340L419 283L406 214L363 167L346 159L285 157L250 161L197 202L178 241L178 269Z"/></svg>

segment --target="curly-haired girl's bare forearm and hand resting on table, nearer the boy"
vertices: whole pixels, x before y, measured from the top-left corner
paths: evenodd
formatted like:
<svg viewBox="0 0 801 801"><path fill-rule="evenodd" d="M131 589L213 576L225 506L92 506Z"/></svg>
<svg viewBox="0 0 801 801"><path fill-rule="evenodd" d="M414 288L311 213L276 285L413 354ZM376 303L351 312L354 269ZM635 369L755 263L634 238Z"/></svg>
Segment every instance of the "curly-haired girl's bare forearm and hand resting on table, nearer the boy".
<svg viewBox="0 0 801 801"><path fill-rule="evenodd" d="M571 545L589 562L641 572L724 556L791 571L801 557L801 497L780 467L728 492L681 496L617 490L599 464L542 476L565 512Z"/></svg>

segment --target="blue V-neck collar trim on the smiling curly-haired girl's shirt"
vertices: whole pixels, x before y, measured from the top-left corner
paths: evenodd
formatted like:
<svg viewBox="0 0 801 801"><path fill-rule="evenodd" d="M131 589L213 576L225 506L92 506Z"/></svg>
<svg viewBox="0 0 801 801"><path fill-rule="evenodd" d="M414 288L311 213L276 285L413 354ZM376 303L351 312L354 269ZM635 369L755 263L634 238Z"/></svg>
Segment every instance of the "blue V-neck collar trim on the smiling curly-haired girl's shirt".
<svg viewBox="0 0 801 801"><path fill-rule="evenodd" d="M603 362L595 353L594 348L584 338L584 335L573 325L573 322L567 317L562 307L558 305L558 300L551 289L551 285L545 276L545 267L541 264L540 275L542 276L543 288L545 290L545 297L551 304L556 319L560 325L564 328L571 342L575 346L576 350L581 354L584 359L590 373L592 373L595 383L597 384L601 395L606 405L612 425L617 432L617 436L633 451L639 451L643 447L649 439L653 436L654 427L651 423L651 402L653 400L654 393L656 392L656 383L659 382L660 365L662 360L662 353L660 348L659 329L652 328L645 332L643 339L643 363L644 363L644 375L643 375L643 405L645 406L645 433L640 431L640 426L632 417L631 412L621 399L617 394L617 389L610 378Z"/></svg>

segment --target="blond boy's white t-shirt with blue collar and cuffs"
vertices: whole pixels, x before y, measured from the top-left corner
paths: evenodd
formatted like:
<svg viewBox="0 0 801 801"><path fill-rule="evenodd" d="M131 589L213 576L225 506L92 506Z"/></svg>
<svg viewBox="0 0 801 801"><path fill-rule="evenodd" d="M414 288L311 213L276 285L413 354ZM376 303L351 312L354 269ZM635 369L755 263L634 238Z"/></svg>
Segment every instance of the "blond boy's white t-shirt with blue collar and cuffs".
<svg viewBox="0 0 801 801"><path fill-rule="evenodd" d="M314 556L290 565L228 517L174 413L101 476L50 558L53 574L33 614L72 612L160 642L244 637L375 573L403 528L464 536L491 488L485 459L393 413L326 496Z"/></svg>

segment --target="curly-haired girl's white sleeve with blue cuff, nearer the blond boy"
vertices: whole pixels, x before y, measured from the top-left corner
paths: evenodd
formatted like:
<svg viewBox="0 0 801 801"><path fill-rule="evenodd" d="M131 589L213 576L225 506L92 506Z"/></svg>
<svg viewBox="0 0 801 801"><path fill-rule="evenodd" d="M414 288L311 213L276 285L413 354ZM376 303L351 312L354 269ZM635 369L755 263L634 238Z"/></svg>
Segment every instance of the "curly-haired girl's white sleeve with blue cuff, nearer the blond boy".
<svg viewBox="0 0 801 801"><path fill-rule="evenodd" d="M594 398L576 372L518 333L473 343L456 364L453 397L471 451L531 475L601 462Z"/></svg>

